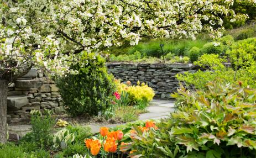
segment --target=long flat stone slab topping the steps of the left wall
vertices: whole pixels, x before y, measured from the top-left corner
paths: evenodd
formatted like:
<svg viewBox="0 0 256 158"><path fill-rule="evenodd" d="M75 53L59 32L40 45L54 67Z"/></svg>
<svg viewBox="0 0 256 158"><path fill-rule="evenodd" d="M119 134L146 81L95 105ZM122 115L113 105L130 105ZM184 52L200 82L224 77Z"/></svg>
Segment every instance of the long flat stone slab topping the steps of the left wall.
<svg viewBox="0 0 256 158"><path fill-rule="evenodd" d="M18 88L39 88L43 85L43 81L35 80L17 80L15 81L15 87Z"/></svg>

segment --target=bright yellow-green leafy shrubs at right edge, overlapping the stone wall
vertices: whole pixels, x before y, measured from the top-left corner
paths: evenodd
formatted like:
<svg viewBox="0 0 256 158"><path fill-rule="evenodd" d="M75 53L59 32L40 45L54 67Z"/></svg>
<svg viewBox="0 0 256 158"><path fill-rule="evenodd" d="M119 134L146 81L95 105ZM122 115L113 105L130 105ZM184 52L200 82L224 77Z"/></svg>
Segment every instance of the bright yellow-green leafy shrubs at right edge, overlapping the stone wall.
<svg viewBox="0 0 256 158"><path fill-rule="evenodd" d="M203 55L195 64L207 66L206 71L197 71L195 73L185 72L184 75L177 75L179 81L185 82L187 87L197 89L205 88L208 81L218 81L220 83L243 82L243 87L256 86L256 39L250 38L237 41L226 53L232 67L226 67L222 64L224 57L218 55ZM214 71L211 71L214 70Z"/></svg>

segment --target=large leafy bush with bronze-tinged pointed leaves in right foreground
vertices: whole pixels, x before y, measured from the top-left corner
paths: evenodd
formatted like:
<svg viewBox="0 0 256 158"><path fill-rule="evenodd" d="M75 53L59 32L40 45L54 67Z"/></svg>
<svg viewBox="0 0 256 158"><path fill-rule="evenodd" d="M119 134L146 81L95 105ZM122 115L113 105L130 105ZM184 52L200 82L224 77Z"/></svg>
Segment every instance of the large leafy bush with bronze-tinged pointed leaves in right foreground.
<svg viewBox="0 0 256 158"><path fill-rule="evenodd" d="M255 157L256 89L210 82L206 91L181 87L171 117L158 130L137 130L140 157ZM135 128L137 129L137 128Z"/></svg>

